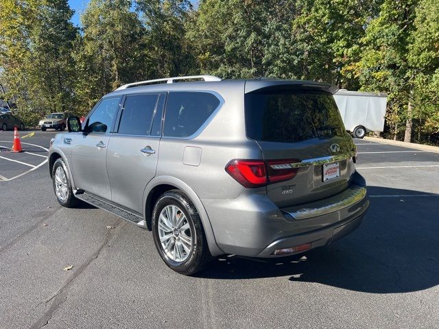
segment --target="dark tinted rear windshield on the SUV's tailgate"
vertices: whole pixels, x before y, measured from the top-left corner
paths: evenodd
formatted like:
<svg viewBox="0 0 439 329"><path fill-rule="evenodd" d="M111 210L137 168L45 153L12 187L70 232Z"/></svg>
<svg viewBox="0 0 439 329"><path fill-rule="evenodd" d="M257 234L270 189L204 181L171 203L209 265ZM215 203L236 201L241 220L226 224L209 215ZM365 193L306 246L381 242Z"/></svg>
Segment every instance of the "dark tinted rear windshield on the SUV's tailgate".
<svg viewBox="0 0 439 329"><path fill-rule="evenodd" d="M316 90L270 90L245 98L248 138L295 143L346 134L331 93Z"/></svg>

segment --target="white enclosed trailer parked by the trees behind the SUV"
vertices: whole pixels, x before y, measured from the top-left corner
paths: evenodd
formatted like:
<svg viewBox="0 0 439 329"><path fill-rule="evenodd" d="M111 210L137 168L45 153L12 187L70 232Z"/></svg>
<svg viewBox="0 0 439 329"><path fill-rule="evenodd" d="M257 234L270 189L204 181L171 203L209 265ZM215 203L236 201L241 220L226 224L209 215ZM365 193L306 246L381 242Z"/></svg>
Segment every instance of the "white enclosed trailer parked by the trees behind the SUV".
<svg viewBox="0 0 439 329"><path fill-rule="evenodd" d="M344 127L355 138L363 138L367 131L383 131L386 94L340 89L334 94L334 99L342 114Z"/></svg>

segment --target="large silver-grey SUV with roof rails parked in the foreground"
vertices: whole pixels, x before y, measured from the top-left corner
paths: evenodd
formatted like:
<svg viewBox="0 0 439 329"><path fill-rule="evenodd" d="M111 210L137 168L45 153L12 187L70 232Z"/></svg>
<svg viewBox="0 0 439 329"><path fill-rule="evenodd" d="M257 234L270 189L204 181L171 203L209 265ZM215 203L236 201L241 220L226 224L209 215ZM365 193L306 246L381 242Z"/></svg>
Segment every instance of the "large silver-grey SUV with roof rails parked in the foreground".
<svg viewBox="0 0 439 329"><path fill-rule="evenodd" d="M209 75L121 86L51 141L56 197L152 230L166 265L186 275L220 254L328 245L368 208L336 89Z"/></svg>

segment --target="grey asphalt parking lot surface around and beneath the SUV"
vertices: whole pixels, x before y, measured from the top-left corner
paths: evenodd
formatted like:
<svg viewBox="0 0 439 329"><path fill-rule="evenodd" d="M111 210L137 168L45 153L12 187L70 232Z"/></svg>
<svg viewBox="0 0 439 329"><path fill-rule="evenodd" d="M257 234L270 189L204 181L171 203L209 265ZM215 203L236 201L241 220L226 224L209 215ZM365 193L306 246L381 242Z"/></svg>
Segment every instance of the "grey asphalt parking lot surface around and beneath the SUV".
<svg viewBox="0 0 439 329"><path fill-rule="evenodd" d="M150 232L58 205L54 134L11 154L13 132L0 132L0 328L438 328L439 154L356 141L370 209L353 234L185 277Z"/></svg>

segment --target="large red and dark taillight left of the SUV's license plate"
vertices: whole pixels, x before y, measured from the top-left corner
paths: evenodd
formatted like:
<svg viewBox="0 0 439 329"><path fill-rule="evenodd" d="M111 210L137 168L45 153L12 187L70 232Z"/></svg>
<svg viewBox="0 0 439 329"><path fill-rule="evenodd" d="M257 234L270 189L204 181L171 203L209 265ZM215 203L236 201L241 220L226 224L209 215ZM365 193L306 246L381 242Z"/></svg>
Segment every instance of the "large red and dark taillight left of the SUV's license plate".
<svg viewBox="0 0 439 329"><path fill-rule="evenodd" d="M232 160L226 165L227 173L246 188L265 186L270 183L291 180L297 168L292 163L298 159L286 160Z"/></svg>

